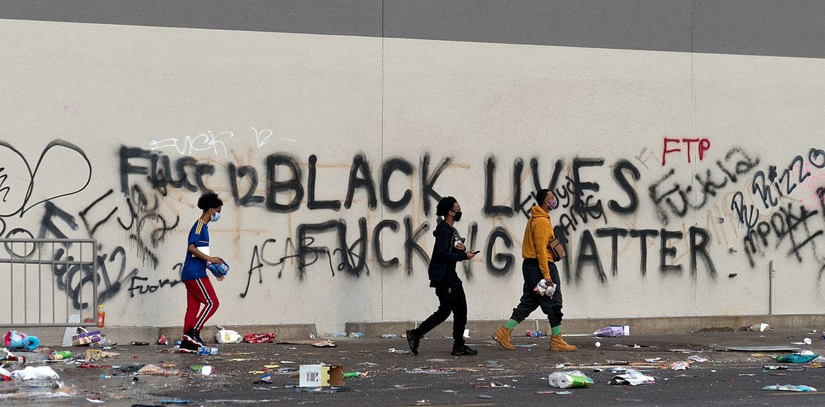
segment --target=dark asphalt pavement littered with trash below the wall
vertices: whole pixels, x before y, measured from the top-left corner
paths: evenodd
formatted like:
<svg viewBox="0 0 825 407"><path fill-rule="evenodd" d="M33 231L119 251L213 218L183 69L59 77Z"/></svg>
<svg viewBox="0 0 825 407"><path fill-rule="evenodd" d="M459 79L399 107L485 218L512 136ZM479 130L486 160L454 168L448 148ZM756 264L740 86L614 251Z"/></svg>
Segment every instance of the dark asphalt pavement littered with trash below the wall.
<svg viewBox="0 0 825 407"><path fill-rule="evenodd" d="M508 351L492 333L470 333L474 357L450 356L452 339L422 340L420 354L408 353L405 338L330 338L335 348L309 343L222 344L219 354L172 353L170 346L117 344L119 353L80 367L80 362L43 362L45 353L18 353L27 366L49 366L58 380L0 382L0 403L9 405L821 405L825 369L811 362L780 363L773 357L791 352L719 352L728 347L799 347L825 355L820 331L725 331L643 334L620 338L568 336L577 352L549 352L549 338L513 338ZM794 345L811 338L811 345ZM323 338L318 338L320 340ZM309 342L309 340L308 340ZM596 347L596 342L601 346ZM54 348L83 355L87 348ZM708 359L707 362L691 360ZM646 360L653 362L646 362ZM624 364L624 363L628 364ZM687 364L673 370L675 362ZM338 364L347 377L341 387L300 388L292 369L309 364ZM144 365L170 371L130 373ZM563 367L560 365L564 364ZM113 367L114 366L114 367ZM213 372L205 376L200 366ZM784 366L779 370L766 366ZM813 365L816 366L816 365ZM120 368L116 368L120 367ZM631 368L653 376L639 386L608 382ZM580 370L593 384L585 389L549 386L548 375ZM13 370L13 369L10 369ZM176 372L177 371L177 372ZM262 381L263 372L271 383ZM291 374L290 374L291 373ZM761 390L771 385L805 385L821 391ZM54 393L59 386L63 390ZM560 392L563 394L558 394ZM68 394L67 394L68 393ZM73 393L76 393L73 395ZM565 394L566 393L566 394ZM186 404L177 404L186 402Z"/></svg>

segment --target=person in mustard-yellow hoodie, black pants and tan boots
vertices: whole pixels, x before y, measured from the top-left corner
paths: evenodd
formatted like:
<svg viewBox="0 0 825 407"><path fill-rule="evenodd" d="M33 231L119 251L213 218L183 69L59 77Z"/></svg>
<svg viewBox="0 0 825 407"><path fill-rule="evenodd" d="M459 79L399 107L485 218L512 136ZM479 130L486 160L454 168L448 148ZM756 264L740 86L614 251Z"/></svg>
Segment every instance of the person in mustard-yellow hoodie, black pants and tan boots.
<svg viewBox="0 0 825 407"><path fill-rule="evenodd" d="M536 192L535 199L539 206L530 210L530 220L524 230L524 241L521 244L521 275L524 277L524 293L521 301L513 309L510 319L493 333L493 339L502 347L513 350L516 347L510 343L510 333L513 328L536 308L541 307L550 322L552 336L550 338L551 351L574 351L576 347L565 342L562 338L562 290L559 269L556 268L553 255L549 253L547 245L553 239L553 224L550 223L549 211L559 205L553 192L547 189ZM542 296L533 291L540 280L552 280L556 284L553 296Z"/></svg>

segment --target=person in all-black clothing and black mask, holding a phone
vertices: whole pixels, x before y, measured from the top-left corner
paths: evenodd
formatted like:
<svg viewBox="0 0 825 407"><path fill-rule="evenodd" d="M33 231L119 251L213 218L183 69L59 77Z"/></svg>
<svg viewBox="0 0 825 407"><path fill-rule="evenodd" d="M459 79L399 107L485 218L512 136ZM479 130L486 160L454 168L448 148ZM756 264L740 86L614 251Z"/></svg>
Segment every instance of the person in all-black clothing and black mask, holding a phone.
<svg viewBox="0 0 825 407"><path fill-rule="evenodd" d="M432 235L436 244L432 247L430 260L430 286L436 289L438 310L425 319L416 329L407 331L407 342L414 355L418 354L421 338L444 322L453 314L453 356L473 356L479 353L464 344L464 326L467 324L467 297L461 279L455 272L455 263L475 257L475 253L464 247L464 239L453 228L454 222L461 220L461 206L452 196L438 201L436 215L443 217Z"/></svg>

